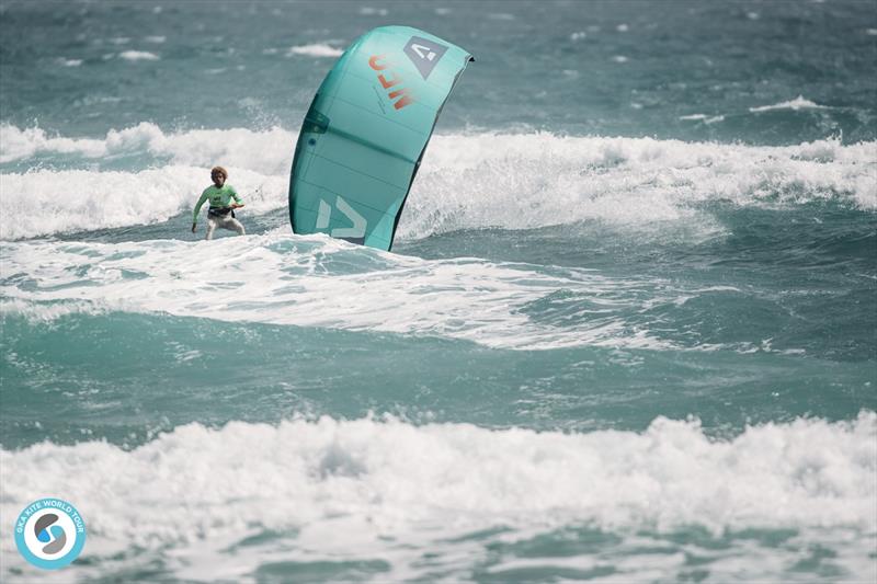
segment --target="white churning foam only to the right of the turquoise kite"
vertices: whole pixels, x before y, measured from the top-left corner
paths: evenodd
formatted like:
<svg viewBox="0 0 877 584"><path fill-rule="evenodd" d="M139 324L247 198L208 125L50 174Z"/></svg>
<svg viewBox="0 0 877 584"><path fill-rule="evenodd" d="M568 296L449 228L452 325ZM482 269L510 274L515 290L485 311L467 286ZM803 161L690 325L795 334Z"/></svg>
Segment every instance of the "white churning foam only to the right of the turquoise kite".
<svg viewBox="0 0 877 584"><path fill-rule="evenodd" d="M831 157L815 158L815 150ZM654 225L692 219L692 205L715 199L750 206L841 198L873 210L875 173L877 142L748 147L550 134L436 136L398 234L584 219Z"/></svg>

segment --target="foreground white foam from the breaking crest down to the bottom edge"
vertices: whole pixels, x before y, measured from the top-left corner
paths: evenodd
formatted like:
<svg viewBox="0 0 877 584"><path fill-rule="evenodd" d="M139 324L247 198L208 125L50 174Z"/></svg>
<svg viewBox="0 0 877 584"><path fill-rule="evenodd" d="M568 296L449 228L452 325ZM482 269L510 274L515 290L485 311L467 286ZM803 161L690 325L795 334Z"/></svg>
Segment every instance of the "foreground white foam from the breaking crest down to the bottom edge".
<svg viewBox="0 0 877 584"><path fill-rule="evenodd" d="M702 526L717 537L796 530L800 549L831 550L853 580L875 570L874 412L852 422L749 427L730 439L708 438L696 421L663 417L641 433L582 434L395 419L190 424L132 450L105 442L2 449L0 466L14 478L0 483L4 517L57 493L83 514L83 557L92 562L66 569L68 577L77 570L93 577L125 553L126 565L160 554L185 580L251 581L260 564L339 557L380 558L389 581L429 580L436 566L453 570L455 558L468 566L487 561L491 542L583 525L616 534L620 549L543 564L596 558L612 562L617 579L639 581L684 563L663 552L665 540L653 548L663 560L656 563L646 534ZM498 527L493 537L483 533ZM264 534L272 537L251 538ZM0 546L5 576L29 570L11 536ZM435 560L423 562L425 551ZM777 556L787 565L800 560L743 537L713 548L708 569L719 580L740 577L737 564L747 559L745 573L775 580L784 568L767 560ZM492 570L515 561L538 559L506 556Z"/></svg>

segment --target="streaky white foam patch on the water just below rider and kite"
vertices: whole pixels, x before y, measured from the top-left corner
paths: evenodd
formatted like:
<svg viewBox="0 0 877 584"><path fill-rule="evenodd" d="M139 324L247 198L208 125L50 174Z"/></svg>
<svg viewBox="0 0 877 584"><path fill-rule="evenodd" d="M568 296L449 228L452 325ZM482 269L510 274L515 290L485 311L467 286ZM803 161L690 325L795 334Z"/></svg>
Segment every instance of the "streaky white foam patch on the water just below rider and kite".
<svg viewBox="0 0 877 584"><path fill-rule="evenodd" d="M121 310L527 350L673 347L646 325L627 323L624 314L637 312L643 302L670 304L683 295L663 280L626 280L586 270L546 274L477 259L421 260L324 236L282 233L213 242L5 243L0 261L5 275L26 273L36 283L10 280L0 287L8 300L0 308L39 320L77 310ZM356 265L362 267L351 272ZM556 300L562 327L551 313L529 314L534 302L558 290L566 298ZM582 298L590 308L582 308ZM570 322L566 306L582 318Z"/></svg>

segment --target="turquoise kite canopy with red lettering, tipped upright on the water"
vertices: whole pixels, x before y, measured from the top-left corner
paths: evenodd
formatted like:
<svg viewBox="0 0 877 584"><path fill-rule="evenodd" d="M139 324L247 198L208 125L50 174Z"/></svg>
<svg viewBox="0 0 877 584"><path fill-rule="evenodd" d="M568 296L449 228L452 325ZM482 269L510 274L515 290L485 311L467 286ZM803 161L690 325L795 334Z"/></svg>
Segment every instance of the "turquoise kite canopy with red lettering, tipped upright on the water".
<svg viewBox="0 0 877 584"><path fill-rule="evenodd" d="M470 60L408 26L357 38L301 125L289 178L293 232L389 250L435 122Z"/></svg>

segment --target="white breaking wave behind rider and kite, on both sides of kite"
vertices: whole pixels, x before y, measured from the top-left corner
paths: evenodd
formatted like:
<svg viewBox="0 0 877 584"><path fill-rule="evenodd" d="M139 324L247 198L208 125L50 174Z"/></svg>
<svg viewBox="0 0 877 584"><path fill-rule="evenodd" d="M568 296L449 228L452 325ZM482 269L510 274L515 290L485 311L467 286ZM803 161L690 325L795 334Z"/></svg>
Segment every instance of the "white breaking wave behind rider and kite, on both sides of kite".
<svg viewBox="0 0 877 584"><path fill-rule="evenodd" d="M174 176L183 172L183 188L167 182L157 192L157 196L172 199L175 208L190 204L194 184L203 182L195 181L194 169L176 167L207 169L223 163L235 169L230 182L238 187L243 171L260 175L247 178L246 187L269 185L270 192L261 196L267 204L264 209L272 209L284 204L283 184L288 180L295 140L295 133L276 127L172 134L141 123L111 130L103 138L69 138L50 136L37 127L4 125L0 126L0 162L100 164L138 157L144 167L167 164L162 172ZM819 140L753 147L547 133L437 135L425 152L397 236L417 239L455 229L529 229L589 219L635 226L687 221L694 217L693 206L714 199L749 206L834 198L874 210L875 174L877 142L844 146L838 140ZM139 208L125 211L130 224L119 222L116 211L109 216L100 211L118 204L104 199L125 191L118 179L100 170L4 173L0 175L0 196L12 213L0 216L0 237L143 222L137 219ZM89 205L98 213L70 215L65 209L64 217L54 217L59 215L55 208L58 188L91 193ZM26 220L15 213L19 209L31 214ZM107 222L102 222L104 217ZM706 224L709 228L708 220ZM47 225L57 231L47 230Z"/></svg>

